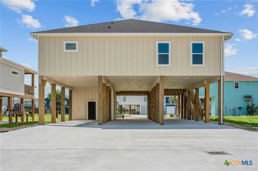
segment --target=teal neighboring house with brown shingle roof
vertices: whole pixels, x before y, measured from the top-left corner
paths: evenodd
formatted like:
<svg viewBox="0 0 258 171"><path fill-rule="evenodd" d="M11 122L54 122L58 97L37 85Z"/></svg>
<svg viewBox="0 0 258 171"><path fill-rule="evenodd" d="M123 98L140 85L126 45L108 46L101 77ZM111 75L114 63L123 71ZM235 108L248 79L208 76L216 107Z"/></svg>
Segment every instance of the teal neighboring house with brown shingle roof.
<svg viewBox="0 0 258 171"><path fill-rule="evenodd" d="M199 88L199 98L204 98L204 87ZM252 103L258 104L258 78L225 71L224 115L246 115L246 106ZM211 116L217 116L218 82L210 84L210 105Z"/></svg>

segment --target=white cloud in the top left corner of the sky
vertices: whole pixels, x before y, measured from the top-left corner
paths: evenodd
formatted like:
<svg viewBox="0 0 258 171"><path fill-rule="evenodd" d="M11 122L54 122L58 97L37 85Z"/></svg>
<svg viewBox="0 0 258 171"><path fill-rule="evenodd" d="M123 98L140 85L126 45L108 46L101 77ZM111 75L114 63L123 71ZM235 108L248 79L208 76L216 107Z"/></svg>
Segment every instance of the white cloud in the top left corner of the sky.
<svg viewBox="0 0 258 171"><path fill-rule="evenodd" d="M34 11L35 4L31 0L15 1L15 0L4 0L1 1L2 5L9 8L19 14L22 10L27 10L29 12Z"/></svg>

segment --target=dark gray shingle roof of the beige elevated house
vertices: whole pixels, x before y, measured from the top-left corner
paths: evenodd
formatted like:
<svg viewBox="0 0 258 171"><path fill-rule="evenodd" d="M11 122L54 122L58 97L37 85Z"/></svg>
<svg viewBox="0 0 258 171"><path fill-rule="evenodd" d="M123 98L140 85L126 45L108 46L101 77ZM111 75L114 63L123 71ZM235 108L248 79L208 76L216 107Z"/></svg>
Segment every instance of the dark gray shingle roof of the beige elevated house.
<svg viewBox="0 0 258 171"><path fill-rule="evenodd" d="M109 28L110 27L110 28ZM228 33L152 21L127 19L33 33Z"/></svg>

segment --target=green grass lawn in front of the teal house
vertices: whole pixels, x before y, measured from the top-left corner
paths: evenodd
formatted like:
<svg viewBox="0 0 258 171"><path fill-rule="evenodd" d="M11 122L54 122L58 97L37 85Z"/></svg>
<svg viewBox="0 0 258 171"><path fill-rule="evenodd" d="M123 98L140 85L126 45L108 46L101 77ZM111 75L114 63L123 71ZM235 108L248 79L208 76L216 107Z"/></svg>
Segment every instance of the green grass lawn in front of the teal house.
<svg viewBox="0 0 258 171"><path fill-rule="evenodd" d="M218 116L211 116L210 120L218 121ZM258 116L224 116L224 122L234 123L245 127L253 128L258 127Z"/></svg>

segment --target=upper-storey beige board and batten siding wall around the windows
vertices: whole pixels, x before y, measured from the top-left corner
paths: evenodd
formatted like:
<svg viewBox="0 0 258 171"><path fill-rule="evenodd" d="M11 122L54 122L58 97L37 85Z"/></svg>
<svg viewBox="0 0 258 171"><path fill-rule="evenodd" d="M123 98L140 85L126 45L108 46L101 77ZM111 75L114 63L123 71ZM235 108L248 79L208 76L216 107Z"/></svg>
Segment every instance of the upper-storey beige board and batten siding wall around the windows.
<svg viewBox="0 0 258 171"><path fill-rule="evenodd" d="M39 37L39 75L220 75L223 37ZM78 41L78 52L64 52ZM171 66L156 66L156 41L171 41ZM190 41L205 41L205 66L190 66Z"/></svg>

